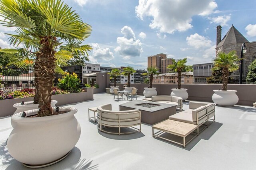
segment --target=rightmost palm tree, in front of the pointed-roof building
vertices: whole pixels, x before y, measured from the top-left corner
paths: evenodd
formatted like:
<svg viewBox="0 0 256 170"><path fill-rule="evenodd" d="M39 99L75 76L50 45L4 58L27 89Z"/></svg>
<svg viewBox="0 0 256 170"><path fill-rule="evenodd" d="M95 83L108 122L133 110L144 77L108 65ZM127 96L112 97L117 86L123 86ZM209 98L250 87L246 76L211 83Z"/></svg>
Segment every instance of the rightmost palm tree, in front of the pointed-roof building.
<svg viewBox="0 0 256 170"><path fill-rule="evenodd" d="M214 68L212 70L222 69L222 90L227 90L229 72L234 72L239 68L239 61L242 60L236 55L236 51L230 51L228 54L224 52L218 53L214 59Z"/></svg>

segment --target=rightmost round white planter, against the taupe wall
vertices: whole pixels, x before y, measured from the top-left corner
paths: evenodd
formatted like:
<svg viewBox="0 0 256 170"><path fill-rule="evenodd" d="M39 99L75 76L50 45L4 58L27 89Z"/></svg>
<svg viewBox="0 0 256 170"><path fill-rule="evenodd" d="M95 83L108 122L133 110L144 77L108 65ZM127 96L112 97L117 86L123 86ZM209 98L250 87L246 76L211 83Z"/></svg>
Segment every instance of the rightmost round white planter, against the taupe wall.
<svg viewBox="0 0 256 170"><path fill-rule="evenodd" d="M213 90L212 101L220 106L234 106L238 102L236 90Z"/></svg>

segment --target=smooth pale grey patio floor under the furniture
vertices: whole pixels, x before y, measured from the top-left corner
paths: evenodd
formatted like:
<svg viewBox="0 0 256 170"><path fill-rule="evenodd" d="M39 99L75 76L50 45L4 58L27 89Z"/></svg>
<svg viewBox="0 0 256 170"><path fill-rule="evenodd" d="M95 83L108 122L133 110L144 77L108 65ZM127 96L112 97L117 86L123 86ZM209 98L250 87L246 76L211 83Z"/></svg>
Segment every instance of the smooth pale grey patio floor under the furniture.
<svg viewBox="0 0 256 170"><path fill-rule="evenodd" d="M142 100L144 96L138 96ZM81 125L81 137L61 162L42 170L254 170L256 169L256 108L216 106L213 122L186 148L152 137L152 127L142 133L109 135L88 121L88 108L111 103L113 109L127 100L113 101L110 94L94 94L94 100L70 106ZM184 102L184 109L189 102ZM177 110L178 111L178 110ZM6 140L12 131L10 117L0 118L0 169L26 170L8 153ZM38 153L40 154L40 153Z"/></svg>

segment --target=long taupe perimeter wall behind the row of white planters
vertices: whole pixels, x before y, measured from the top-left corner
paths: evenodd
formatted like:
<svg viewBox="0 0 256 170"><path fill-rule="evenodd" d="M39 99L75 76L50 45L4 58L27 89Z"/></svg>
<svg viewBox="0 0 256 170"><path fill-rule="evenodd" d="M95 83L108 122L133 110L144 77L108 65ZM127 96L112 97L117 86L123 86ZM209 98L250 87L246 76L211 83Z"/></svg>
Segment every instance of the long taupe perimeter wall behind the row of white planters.
<svg viewBox="0 0 256 170"><path fill-rule="evenodd" d="M120 90L124 84L116 84L120 86ZM113 84L110 84L113 86ZM148 84L131 84L138 89L137 94L143 96L143 91ZM156 88L157 95L170 95L172 88L177 88L178 84L153 84ZM212 102L213 90L222 88L222 84L182 84L181 88L188 89L188 99L202 102ZM256 84L228 84L228 90L237 90L239 98L238 105L253 106L256 100Z"/></svg>

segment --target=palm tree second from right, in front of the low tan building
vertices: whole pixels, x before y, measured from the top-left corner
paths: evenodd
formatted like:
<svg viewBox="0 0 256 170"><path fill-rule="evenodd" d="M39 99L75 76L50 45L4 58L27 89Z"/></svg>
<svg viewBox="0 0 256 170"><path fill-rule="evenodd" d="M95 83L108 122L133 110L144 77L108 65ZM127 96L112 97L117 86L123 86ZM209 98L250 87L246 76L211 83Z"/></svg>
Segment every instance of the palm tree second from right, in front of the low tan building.
<svg viewBox="0 0 256 170"><path fill-rule="evenodd" d="M178 72L178 89L181 88L181 73L186 68L187 58L184 59L172 59L172 64L168 65L167 68Z"/></svg>

